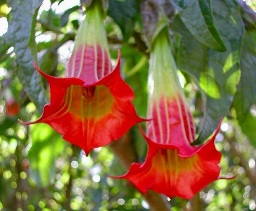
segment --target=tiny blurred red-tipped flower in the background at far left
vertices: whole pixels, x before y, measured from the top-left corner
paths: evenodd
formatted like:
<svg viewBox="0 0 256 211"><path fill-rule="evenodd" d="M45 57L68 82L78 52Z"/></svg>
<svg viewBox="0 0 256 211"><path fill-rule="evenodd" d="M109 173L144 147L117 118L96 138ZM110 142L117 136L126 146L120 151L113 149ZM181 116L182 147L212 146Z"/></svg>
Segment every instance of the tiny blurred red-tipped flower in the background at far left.
<svg viewBox="0 0 256 211"><path fill-rule="evenodd" d="M15 100L9 88L6 88L4 90L4 98L5 98L5 104L6 104L6 114L8 116L16 116L19 112L19 104Z"/></svg>

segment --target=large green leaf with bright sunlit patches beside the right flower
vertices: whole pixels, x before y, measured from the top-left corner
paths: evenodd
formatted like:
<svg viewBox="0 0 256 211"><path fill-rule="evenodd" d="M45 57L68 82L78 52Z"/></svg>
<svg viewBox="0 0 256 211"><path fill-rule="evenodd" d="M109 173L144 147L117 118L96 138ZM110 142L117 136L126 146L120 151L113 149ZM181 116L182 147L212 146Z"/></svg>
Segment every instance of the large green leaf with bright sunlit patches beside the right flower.
<svg viewBox="0 0 256 211"><path fill-rule="evenodd" d="M205 96L204 119L194 144L209 137L221 117L227 115L238 83L238 62L244 32L239 8L231 0L216 0L213 15L227 47L226 52L206 48L189 34L179 17L174 20L174 30L182 35L177 65L192 75Z"/></svg>

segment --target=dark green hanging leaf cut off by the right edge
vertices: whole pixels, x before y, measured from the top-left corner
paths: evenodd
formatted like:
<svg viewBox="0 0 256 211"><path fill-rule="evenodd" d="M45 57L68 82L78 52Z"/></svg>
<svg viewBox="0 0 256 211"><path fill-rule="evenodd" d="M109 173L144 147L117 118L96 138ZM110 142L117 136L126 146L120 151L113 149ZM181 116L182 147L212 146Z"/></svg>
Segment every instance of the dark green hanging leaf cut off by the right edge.
<svg viewBox="0 0 256 211"><path fill-rule="evenodd" d="M237 119L245 119L256 98L256 32L246 31L240 57L241 77L234 97Z"/></svg>

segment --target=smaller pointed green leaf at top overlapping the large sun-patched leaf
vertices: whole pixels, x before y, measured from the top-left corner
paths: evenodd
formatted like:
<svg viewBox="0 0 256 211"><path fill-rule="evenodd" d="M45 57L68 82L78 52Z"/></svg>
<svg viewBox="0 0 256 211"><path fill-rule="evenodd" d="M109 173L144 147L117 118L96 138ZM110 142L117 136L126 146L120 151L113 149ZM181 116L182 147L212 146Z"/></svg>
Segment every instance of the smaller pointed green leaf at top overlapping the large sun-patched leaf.
<svg viewBox="0 0 256 211"><path fill-rule="evenodd" d="M215 27L211 0L171 0L171 2L179 11L183 23L199 42L217 51L226 50Z"/></svg>

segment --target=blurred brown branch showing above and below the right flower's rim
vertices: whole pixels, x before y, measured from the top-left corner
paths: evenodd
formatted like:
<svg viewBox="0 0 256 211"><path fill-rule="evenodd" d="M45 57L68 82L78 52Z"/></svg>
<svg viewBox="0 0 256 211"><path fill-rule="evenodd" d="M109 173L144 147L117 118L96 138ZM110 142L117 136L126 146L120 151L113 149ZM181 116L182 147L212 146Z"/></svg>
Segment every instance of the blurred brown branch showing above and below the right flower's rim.
<svg viewBox="0 0 256 211"><path fill-rule="evenodd" d="M130 165L137 162L136 152L131 145L131 139L129 132L117 141L113 141L110 147L114 154L119 158L124 168L128 170ZM129 156L127 156L129 155ZM156 193L152 190L148 190L146 194L143 194L152 211L170 211L171 205L167 202L164 195Z"/></svg>

